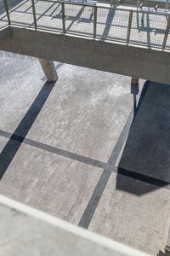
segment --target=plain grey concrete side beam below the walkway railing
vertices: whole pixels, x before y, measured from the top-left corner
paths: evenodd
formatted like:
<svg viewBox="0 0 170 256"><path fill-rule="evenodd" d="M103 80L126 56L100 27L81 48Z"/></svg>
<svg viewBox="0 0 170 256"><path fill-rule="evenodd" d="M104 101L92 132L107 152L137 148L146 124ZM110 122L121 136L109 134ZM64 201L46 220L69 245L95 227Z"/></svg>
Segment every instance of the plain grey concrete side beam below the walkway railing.
<svg viewBox="0 0 170 256"><path fill-rule="evenodd" d="M0 49L170 84L170 55L156 49L11 27Z"/></svg>

